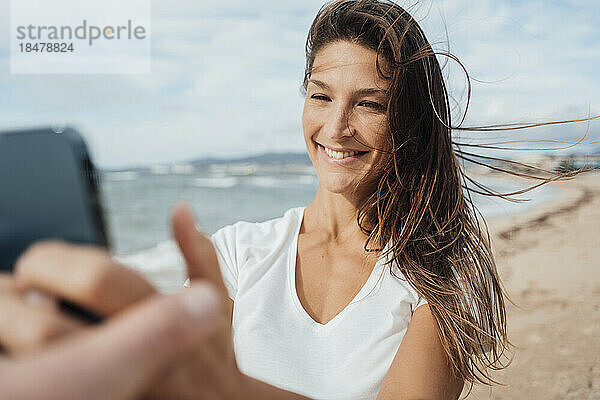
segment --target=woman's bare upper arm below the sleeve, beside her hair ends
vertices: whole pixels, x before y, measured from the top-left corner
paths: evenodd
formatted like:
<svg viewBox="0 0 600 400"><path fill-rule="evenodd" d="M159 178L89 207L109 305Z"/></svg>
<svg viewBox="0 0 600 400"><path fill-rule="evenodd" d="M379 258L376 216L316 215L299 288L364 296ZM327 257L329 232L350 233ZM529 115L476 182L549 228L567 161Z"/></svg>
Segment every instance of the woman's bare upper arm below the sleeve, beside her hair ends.
<svg viewBox="0 0 600 400"><path fill-rule="evenodd" d="M377 399L454 400L462 387L451 373L429 306L417 308Z"/></svg>

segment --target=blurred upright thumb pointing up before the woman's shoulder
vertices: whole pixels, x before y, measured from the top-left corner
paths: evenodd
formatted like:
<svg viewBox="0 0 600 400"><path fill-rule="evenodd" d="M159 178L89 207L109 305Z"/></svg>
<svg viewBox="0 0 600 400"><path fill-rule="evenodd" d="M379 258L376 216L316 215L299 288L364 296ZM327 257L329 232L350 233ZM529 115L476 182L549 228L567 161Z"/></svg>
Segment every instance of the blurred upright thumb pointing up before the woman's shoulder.
<svg viewBox="0 0 600 400"><path fill-rule="evenodd" d="M187 204L175 206L171 222L173 237L185 259L189 278L208 279L225 291L215 247L208 237L196 229L194 216Z"/></svg>

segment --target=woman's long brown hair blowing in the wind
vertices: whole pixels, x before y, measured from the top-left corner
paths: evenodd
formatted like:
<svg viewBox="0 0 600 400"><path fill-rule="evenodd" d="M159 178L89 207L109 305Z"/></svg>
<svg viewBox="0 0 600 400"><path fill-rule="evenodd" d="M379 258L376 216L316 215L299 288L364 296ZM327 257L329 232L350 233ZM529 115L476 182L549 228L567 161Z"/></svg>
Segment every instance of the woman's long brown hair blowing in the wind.
<svg viewBox="0 0 600 400"><path fill-rule="evenodd" d="M463 66L451 54L435 52L417 22L394 2L336 0L319 10L306 42L305 92L317 53L336 41L375 50L377 71L390 81L386 110L390 134L385 148L378 149L384 156L356 187L363 199L357 222L368 235L365 250L381 251L390 243L386 254L391 253L390 269L392 273L399 270L428 300L454 374L471 383L495 382L490 370L505 367L509 360L507 296L487 226L471 193L515 200L512 195L568 179L579 171L545 171L478 155L463 150L473 145L453 142L451 133L457 129L512 130L555 122L463 128L461 121L453 126L437 57L448 57ZM467 176L459 159L539 182L517 192L500 193ZM530 169L521 173L498 162Z"/></svg>

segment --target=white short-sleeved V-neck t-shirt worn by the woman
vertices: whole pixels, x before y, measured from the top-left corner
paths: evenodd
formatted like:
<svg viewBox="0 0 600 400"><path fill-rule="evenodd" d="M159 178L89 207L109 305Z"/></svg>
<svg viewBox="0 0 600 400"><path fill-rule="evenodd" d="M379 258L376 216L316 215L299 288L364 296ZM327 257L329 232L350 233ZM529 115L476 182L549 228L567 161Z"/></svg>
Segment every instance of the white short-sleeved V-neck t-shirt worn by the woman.
<svg viewBox="0 0 600 400"><path fill-rule="evenodd" d="M295 284L304 209L261 223L237 222L212 235L234 301L238 365L247 375L314 399L375 399L412 311L426 301L380 258L344 310L324 325L313 320Z"/></svg>

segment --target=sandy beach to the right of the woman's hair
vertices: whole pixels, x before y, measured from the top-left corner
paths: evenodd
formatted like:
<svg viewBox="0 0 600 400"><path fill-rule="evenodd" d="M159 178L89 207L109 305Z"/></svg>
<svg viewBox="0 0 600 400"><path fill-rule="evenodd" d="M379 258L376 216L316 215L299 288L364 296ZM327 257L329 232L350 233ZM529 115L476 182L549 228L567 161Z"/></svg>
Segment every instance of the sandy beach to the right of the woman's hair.
<svg viewBox="0 0 600 400"><path fill-rule="evenodd" d="M488 221L515 348L504 386L469 400L600 399L600 174L553 185L558 199Z"/></svg>

